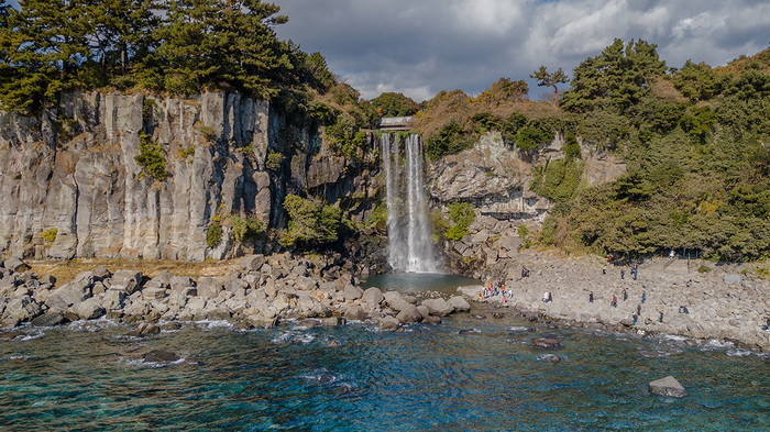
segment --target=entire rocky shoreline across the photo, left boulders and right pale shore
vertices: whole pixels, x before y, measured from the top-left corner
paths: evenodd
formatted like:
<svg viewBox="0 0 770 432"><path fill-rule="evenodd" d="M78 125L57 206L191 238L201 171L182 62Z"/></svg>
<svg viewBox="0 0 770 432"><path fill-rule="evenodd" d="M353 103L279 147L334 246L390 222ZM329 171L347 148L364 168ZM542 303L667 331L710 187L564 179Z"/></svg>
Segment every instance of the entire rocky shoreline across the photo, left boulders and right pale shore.
<svg viewBox="0 0 770 432"><path fill-rule="evenodd" d="M364 290L356 277L333 262L289 253L246 256L240 259L240 269L197 280L167 270L150 278L139 270L111 273L99 266L57 288L52 276L37 277L23 262L9 258L0 267L0 323L3 329L26 323L50 326L106 317L138 324L135 335L144 335L185 321L224 320L234 329L249 330L314 319L308 324L363 321L396 331L414 322L440 323L450 313L470 311L471 301L512 308L531 321L716 339L770 352L770 331L762 329L770 317L768 280L748 278L734 266L698 273L693 268L703 263L688 267L681 259L652 259L639 266L635 280L627 268L591 256L522 251L504 264L495 266L487 280L503 279L510 296L480 298L483 287L475 286L461 287L458 296L444 299L437 292ZM529 277L520 276L522 265ZM551 292L552 301L542 301L544 292ZM613 296L617 307L610 304Z"/></svg>

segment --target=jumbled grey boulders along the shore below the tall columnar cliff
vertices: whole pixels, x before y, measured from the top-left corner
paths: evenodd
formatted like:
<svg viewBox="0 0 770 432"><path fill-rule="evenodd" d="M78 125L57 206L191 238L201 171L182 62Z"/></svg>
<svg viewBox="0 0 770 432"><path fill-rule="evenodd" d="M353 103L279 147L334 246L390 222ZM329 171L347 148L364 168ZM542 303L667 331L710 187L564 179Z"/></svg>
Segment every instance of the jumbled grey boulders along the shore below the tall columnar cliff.
<svg viewBox="0 0 770 432"><path fill-rule="evenodd" d="M340 325L369 321L382 330L414 322L440 323L441 317L469 311L462 296L443 299L403 296L378 288L363 290L340 266L288 253L251 255L241 269L213 278L174 276L163 270L147 278L139 270L111 273L103 266L54 288L52 276L37 277L23 262L10 258L0 268L0 318L3 328L50 326L101 317L139 323L141 336L160 332L162 322L227 320L237 329L266 328L285 319L319 319Z"/></svg>

